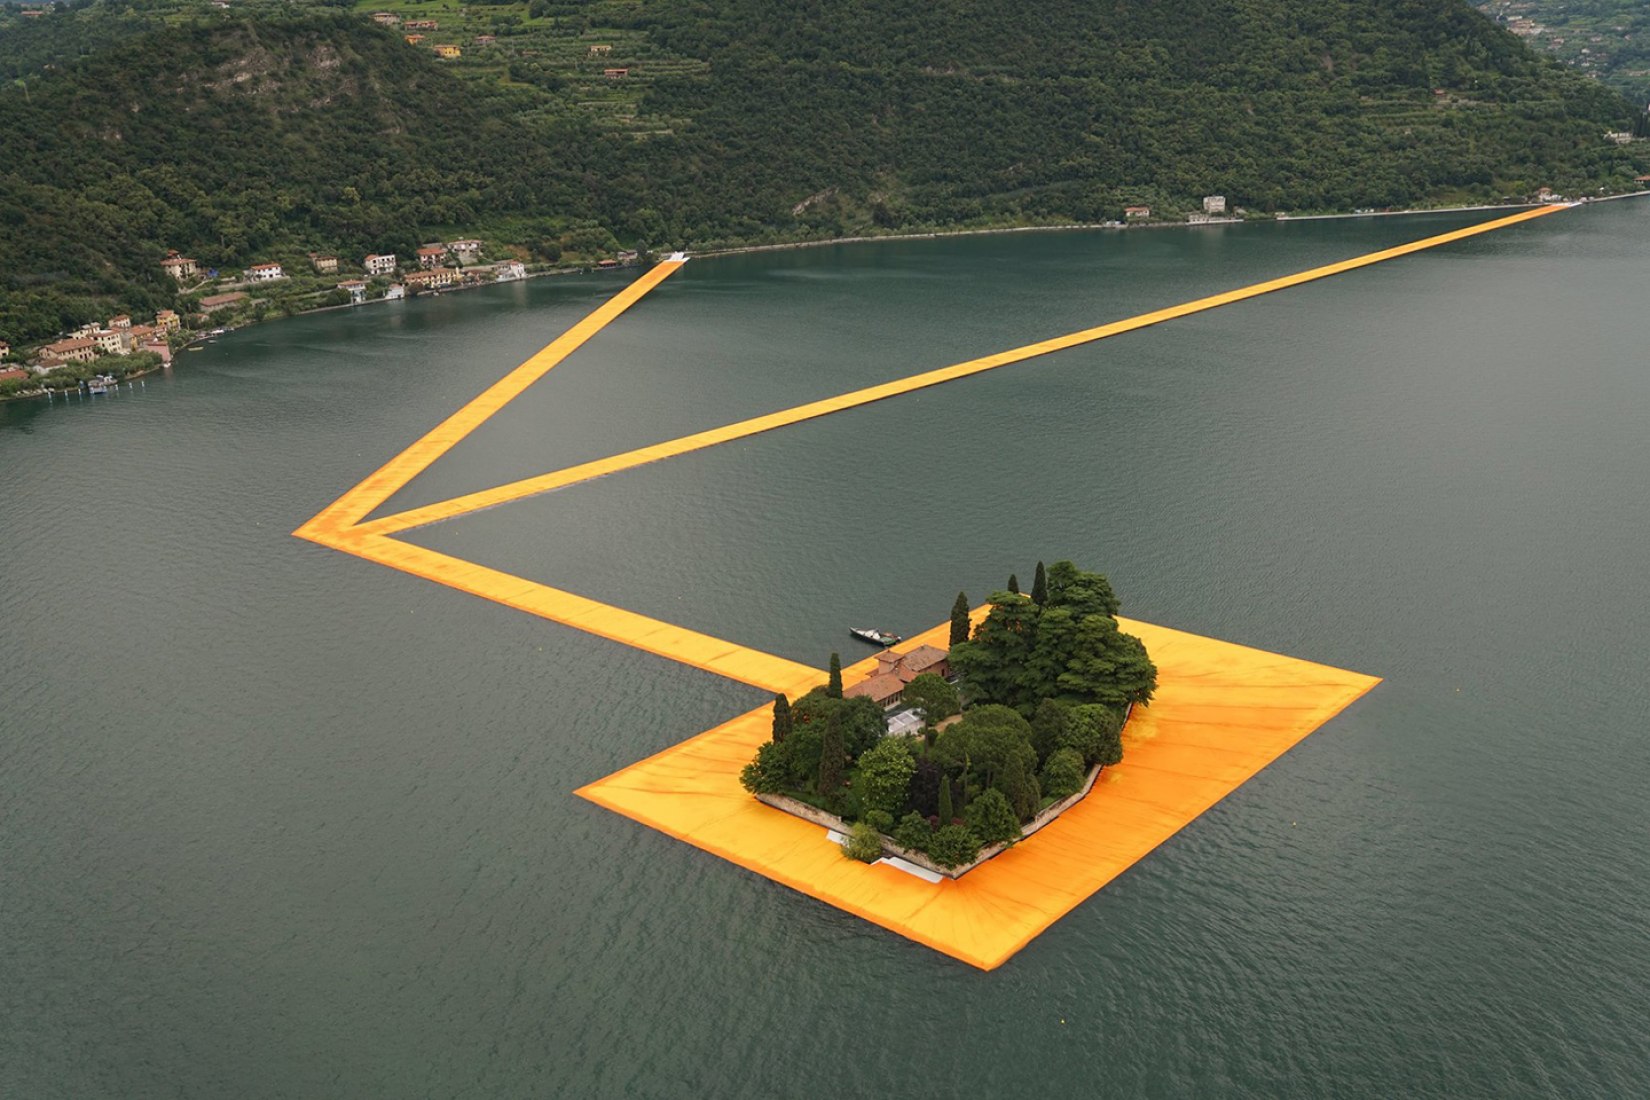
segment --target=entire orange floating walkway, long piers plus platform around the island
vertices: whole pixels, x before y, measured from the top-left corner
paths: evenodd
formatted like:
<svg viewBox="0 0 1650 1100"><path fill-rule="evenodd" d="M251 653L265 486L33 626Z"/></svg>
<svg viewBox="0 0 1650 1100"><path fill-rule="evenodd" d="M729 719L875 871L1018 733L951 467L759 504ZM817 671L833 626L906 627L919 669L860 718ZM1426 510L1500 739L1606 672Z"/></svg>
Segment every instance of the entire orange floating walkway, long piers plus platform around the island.
<svg viewBox="0 0 1650 1100"><path fill-rule="evenodd" d="M432 462L675 274L683 261L672 257L487 388L294 534L505 607L795 698L823 683L825 673L393 536L480 508L1398 259L1559 209L1566 206L1525 209L1282 279L368 519ZM1125 622L1125 628L1140 635L1152 651L1160 689L1152 706L1137 707L1129 721L1124 764L1107 769L1089 797L1058 821L959 881L929 884L889 867L868 867L843 859L833 844L823 841L818 826L747 797L739 788L738 775L756 745L769 736L767 707L591 783L579 793L990 970L1378 683L1371 676L1150 623ZM924 640L942 642L944 628L912 643ZM850 676L863 678L871 663L855 666Z"/></svg>

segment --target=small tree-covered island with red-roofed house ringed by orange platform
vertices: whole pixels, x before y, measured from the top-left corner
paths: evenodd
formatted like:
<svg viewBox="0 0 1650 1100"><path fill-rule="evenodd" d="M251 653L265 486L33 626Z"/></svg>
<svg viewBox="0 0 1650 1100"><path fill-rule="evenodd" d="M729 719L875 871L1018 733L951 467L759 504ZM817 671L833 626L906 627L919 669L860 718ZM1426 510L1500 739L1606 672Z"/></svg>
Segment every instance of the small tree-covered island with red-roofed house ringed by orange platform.
<svg viewBox="0 0 1650 1100"><path fill-rule="evenodd" d="M959 877L1081 801L1122 760L1157 666L1117 627L1110 582L1069 561L1015 577L970 632L957 594L949 650L884 650L876 673L774 699L772 739L739 782L823 825L843 854L937 882ZM855 632L866 637L873 632Z"/></svg>

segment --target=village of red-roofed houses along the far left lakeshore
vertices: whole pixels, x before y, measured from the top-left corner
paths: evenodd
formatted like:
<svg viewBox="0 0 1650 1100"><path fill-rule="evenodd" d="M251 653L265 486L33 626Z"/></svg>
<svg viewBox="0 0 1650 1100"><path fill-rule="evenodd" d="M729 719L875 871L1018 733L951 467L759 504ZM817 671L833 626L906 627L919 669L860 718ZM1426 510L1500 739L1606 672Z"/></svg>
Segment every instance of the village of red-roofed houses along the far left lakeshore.
<svg viewBox="0 0 1650 1100"><path fill-rule="evenodd" d="M127 378L170 366L180 348L264 320L274 308L269 290L276 287L284 299L280 312L299 313L305 307L394 302L528 277L523 261L513 256L495 259L487 252L487 246L474 239L426 244L416 251L406 272L399 256L370 254L361 257L360 275L346 270L330 252L310 252L307 270L289 272L285 264L267 261L252 264L239 275L219 275L170 251L160 267L185 295L182 313L157 310L148 323L134 323L125 313L91 322L51 343L18 350L15 361L12 346L0 340L0 401L73 391L107 393ZM637 252L622 251L594 267L625 267L637 261ZM340 274L350 277L338 279Z"/></svg>

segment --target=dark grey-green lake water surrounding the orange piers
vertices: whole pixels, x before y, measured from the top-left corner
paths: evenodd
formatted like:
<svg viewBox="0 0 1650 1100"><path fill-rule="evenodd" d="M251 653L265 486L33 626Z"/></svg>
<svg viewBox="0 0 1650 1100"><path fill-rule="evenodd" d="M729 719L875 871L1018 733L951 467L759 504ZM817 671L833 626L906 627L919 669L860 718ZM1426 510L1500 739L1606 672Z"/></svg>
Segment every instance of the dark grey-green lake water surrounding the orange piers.
<svg viewBox="0 0 1650 1100"><path fill-rule="evenodd" d="M695 262L394 503L1465 221ZM571 795L756 691L290 538L617 280L0 411L0 1095L1645 1095L1647 247L1568 211L414 536L815 663L1072 557L1386 678L990 975Z"/></svg>

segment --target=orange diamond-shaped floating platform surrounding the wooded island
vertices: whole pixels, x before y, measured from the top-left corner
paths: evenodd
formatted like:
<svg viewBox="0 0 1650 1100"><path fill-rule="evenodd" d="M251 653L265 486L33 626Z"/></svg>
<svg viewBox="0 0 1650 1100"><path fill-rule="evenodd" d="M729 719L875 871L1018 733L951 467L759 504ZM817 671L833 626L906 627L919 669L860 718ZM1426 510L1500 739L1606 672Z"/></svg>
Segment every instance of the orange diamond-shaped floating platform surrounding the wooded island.
<svg viewBox="0 0 1650 1100"><path fill-rule="evenodd" d="M1129 618L1158 691L1124 731L1124 762L1087 798L960 879L855 863L825 831L739 787L771 736L761 706L578 793L776 882L995 970L1084 899L1379 683L1325 665ZM949 627L908 640L945 645ZM850 684L874 658L845 670Z"/></svg>

